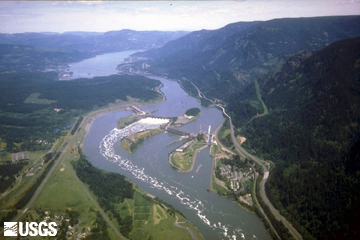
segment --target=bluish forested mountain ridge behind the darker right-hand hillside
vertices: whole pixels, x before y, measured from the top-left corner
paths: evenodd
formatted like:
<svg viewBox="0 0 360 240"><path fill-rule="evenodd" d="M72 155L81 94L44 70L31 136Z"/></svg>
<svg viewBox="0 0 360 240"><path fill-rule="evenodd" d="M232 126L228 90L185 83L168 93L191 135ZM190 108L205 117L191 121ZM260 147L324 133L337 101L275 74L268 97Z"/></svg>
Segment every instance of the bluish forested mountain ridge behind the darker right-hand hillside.
<svg viewBox="0 0 360 240"><path fill-rule="evenodd" d="M359 16L344 16L236 23L193 32L136 56L150 58L150 72L188 78L206 95L228 100L229 92L299 51L312 52L360 36L359 22Z"/></svg>

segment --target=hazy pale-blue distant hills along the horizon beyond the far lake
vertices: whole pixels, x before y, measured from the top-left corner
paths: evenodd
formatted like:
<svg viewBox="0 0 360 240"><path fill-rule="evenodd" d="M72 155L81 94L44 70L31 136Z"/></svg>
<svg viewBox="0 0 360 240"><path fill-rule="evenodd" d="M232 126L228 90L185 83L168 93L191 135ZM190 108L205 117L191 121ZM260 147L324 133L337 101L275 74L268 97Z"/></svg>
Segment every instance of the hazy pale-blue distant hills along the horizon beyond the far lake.
<svg viewBox="0 0 360 240"><path fill-rule="evenodd" d="M0 34L0 44L27 45L51 49L68 49L86 53L129 49L150 49L186 35L187 32L133 31L120 30L105 33L66 32L66 33L17 33Z"/></svg>

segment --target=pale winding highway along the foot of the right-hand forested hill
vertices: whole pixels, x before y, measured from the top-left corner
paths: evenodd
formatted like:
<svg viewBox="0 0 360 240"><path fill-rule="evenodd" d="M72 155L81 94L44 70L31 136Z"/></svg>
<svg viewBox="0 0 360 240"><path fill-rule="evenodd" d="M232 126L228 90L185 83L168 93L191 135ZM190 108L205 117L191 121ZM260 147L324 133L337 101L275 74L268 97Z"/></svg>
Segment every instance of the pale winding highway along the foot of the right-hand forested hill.
<svg viewBox="0 0 360 240"><path fill-rule="evenodd" d="M198 91L198 96L201 98L205 98L211 102L214 103L213 100L205 97L205 95L200 91L200 89L193 83L191 82L191 84L196 88L196 90ZM240 156L246 156L250 159L252 159L253 161L255 161L257 164L259 164L264 172L264 177L260 182L260 196L263 200L263 202L265 203L265 205L267 205L271 211L271 213L275 216L275 218L278 221L282 221L283 224L285 225L285 227L289 230L290 234L293 236L294 239L296 240L302 240L302 236L301 234L292 226L292 224L284 217L280 214L280 212L272 205L272 203L270 202L269 198L266 195L266 191L265 191L265 185L266 182L269 178L269 170L267 169L267 167L263 164L262 160L250 153L248 153L243 147L240 146L239 142L236 139L235 136L235 131L234 131L234 125L232 124L232 120L229 114L226 113L225 108L223 106L221 106L220 104L216 105L217 107L221 108L223 111L223 114L229 119L230 121L230 133L231 133L231 139L232 142L235 146L235 149L237 150L237 152L239 153ZM255 178L256 179L256 178ZM255 195L255 199L256 199L256 195ZM257 200L257 199L256 199ZM261 208L261 206L258 204L258 206ZM263 209L261 209L263 214L265 213L263 211ZM265 214L264 214L265 215ZM266 215L265 215L266 216ZM270 223L271 224L271 223ZM275 229L274 229L275 230Z"/></svg>

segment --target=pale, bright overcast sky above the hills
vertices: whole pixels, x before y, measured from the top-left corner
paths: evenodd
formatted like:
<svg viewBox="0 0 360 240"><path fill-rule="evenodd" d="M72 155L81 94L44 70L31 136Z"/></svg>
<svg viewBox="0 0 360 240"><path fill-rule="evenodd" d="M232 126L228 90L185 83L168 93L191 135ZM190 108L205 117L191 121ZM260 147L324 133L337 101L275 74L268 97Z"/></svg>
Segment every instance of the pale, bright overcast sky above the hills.
<svg viewBox="0 0 360 240"><path fill-rule="evenodd" d="M0 32L194 31L240 21L336 15L360 15L360 0L0 1Z"/></svg>

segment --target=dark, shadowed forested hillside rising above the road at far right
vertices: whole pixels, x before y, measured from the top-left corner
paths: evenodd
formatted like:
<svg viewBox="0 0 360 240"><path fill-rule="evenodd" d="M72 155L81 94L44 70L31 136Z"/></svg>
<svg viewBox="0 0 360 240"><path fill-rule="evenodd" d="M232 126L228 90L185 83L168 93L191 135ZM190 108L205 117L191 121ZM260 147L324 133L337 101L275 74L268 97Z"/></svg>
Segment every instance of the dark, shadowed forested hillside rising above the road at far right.
<svg viewBox="0 0 360 240"><path fill-rule="evenodd" d="M266 186L272 202L317 239L358 239L360 38L293 56L259 86L269 114L251 120L256 84L228 108L244 146L276 164Z"/></svg>

